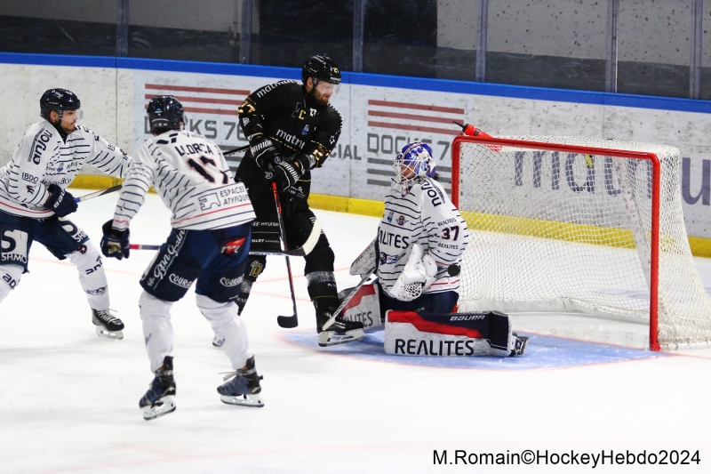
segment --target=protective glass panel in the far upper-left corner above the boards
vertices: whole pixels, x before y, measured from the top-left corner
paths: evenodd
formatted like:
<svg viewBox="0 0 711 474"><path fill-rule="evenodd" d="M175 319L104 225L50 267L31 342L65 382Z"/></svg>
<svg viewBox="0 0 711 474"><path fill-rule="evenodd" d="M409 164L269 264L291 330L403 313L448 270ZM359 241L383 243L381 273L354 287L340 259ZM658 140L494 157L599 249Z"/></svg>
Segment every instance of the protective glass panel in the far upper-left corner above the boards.
<svg viewBox="0 0 711 474"><path fill-rule="evenodd" d="M0 51L116 55L116 0L0 2Z"/></svg>

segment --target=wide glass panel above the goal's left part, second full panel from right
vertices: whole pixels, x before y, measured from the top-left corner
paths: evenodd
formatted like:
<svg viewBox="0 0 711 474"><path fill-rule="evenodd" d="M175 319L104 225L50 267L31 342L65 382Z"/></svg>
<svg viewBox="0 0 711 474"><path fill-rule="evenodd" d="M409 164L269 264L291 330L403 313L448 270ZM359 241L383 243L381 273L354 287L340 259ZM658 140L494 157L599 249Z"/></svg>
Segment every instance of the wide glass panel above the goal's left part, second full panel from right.
<svg viewBox="0 0 711 474"><path fill-rule="evenodd" d="M605 90L607 2L490 0L486 82Z"/></svg>

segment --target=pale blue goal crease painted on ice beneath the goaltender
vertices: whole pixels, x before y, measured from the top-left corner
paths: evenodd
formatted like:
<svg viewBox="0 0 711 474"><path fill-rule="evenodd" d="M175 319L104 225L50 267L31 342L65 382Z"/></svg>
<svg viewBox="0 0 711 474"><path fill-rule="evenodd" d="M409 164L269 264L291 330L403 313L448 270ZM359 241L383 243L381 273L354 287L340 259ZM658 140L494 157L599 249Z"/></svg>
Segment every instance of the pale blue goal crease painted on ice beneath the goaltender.
<svg viewBox="0 0 711 474"><path fill-rule="evenodd" d="M289 331L283 334L286 340L304 348L409 366L529 370L609 364L668 356L663 352L651 352L650 350L629 349L595 342L572 341L551 336L521 333L530 337L526 352L522 357L406 357L391 356L385 353L383 349L383 332L368 333L362 341L340 344L329 348L318 347L316 334L311 331Z"/></svg>

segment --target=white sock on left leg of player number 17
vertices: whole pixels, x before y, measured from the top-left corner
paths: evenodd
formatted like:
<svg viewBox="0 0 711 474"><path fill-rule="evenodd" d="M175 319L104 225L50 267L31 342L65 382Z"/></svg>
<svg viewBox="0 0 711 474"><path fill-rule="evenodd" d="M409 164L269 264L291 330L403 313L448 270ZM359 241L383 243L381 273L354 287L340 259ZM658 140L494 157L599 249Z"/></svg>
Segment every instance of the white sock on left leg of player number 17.
<svg viewBox="0 0 711 474"><path fill-rule="evenodd" d="M172 355L172 302L159 300L144 291L140 294L139 306L150 371L156 372L163 366L165 356Z"/></svg>

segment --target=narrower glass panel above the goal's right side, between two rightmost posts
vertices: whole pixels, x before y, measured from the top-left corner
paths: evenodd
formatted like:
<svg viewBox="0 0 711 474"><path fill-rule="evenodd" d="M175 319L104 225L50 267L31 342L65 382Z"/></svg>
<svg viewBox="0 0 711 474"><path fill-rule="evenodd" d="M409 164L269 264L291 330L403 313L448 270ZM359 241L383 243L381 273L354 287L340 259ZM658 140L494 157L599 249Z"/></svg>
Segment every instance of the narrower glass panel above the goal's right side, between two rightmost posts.
<svg viewBox="0 0 711 474"><path fill-rule="evenodd" d="M619 0L617 92L689 97L691 0Z"/></svg>

